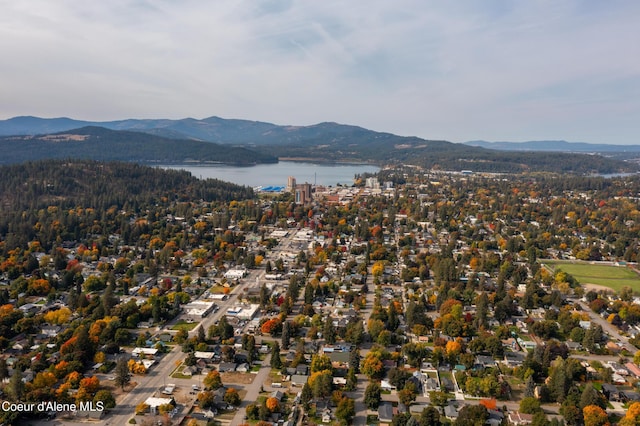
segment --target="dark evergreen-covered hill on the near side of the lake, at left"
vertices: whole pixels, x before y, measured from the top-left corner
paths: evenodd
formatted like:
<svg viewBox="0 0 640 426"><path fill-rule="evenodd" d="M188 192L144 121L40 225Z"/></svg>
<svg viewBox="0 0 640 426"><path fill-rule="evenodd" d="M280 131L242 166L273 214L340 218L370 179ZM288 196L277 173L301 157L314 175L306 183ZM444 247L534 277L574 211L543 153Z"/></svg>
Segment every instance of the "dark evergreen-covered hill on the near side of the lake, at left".
<svg viewBox="0 0 640 426"><path fill-rule="evenodd" d="M175 203L230 202L253 190L133 163L49 160L0 167L0 235L12 244L122 232L128 217ZM82 214L69 214L82 207ZM55 224L58 224L55 226ZM92 227L93 225L93 227Z"/></svg>

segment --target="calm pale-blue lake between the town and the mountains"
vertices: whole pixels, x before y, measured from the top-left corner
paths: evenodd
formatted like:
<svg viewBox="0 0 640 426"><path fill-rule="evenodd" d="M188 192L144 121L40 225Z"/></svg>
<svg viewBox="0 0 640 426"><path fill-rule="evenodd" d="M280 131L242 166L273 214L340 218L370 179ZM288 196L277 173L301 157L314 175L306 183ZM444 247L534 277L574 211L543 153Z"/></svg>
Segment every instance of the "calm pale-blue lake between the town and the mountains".
<svg viewBox="0 0 640 426"><path fill-rule="evenodd" d="M377 173L380 168L370 164L316 164L297 161L280 161L275 164L259 164L252 167L233 166L161 166L164 169L186 170L200 179L220 179L238 185L286 186L293 176L297 183L315 183L324 186L351 185L356 174Z"/></svg>

